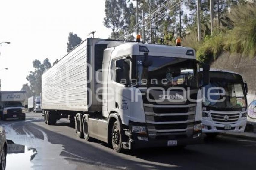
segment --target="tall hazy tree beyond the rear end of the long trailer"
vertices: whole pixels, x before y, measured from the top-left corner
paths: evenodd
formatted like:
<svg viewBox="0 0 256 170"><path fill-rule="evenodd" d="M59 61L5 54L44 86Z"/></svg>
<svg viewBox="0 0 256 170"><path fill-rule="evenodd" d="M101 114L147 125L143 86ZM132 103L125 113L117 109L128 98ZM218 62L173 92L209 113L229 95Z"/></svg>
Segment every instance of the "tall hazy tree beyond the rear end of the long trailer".
<svg viewBox="0 0 256 170"><path fill-rule="evenodd" d="M45 70L51 67L51 63L49 62L48 58L43 61L43 64L41 64L41 62L36 59L33 61L33 67L35 70L30 71L26 79L29 81L30 89L34 95L40 95L42 89L41 76Z"/></svg>

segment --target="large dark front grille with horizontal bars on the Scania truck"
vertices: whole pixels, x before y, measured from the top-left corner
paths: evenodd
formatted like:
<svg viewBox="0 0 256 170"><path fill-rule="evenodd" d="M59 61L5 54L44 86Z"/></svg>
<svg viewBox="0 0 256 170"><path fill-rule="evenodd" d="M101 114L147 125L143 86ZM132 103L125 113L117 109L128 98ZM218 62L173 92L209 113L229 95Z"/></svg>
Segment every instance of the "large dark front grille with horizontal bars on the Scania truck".
<svg viewBox="0 0 256 170"><path fill-rule="evenodd" d="M195 106L196 104L144 104L145 118L150 137L163 139L171 138L173 135L192 135L195 121L195 109L191 110L189 108Z"/></svg>

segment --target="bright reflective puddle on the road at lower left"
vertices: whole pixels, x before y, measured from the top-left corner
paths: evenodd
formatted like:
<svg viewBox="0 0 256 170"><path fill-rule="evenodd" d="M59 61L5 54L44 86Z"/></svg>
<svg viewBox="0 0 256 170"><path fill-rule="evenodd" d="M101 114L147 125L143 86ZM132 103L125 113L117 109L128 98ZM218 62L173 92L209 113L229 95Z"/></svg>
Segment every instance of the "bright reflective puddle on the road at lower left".
<svg viewBox="0 0 256 170"><path fill-rule="evenodd" d="M17 129L13 129L13 125L2 125L5 128L6 138L8 139L8 155L6 159L6 170L20 169L63 169L73 170L77 165L70 164L65 156L61 156L64 147L59 144L52 144L48 141L48 136L42 130L30 126L18 127L25 134L19 134ZM17 128L17 127L16 127ZM30 132L30 128L37 129L43 134L43 139L36 138Z"/></svg>

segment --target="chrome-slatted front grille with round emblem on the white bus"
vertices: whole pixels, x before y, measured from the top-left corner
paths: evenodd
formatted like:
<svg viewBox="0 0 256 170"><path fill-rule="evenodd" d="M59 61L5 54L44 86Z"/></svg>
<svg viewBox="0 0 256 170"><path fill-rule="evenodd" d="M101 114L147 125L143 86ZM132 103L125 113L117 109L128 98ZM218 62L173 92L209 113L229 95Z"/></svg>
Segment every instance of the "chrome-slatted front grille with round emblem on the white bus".
<svg viewBox="0 0 256 170"><path fill-rule="evenodd" d="M239 119L240 114L227 114L227 113L211 113L211 118L216 122L236 122Z"/></svg>

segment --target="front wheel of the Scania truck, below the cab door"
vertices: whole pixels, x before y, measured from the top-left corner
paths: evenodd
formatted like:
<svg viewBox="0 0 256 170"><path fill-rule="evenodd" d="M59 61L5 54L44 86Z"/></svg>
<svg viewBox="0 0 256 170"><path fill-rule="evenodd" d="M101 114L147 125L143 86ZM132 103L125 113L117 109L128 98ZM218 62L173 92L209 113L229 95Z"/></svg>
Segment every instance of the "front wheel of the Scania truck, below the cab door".
<svg viewBox="0 0 256 170"><path fill-rule="evenodd" d="M122 135L119 121L115 121L111 131L111 142L114 151L122 152Z"/></svg>

